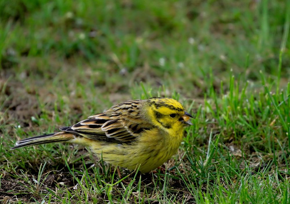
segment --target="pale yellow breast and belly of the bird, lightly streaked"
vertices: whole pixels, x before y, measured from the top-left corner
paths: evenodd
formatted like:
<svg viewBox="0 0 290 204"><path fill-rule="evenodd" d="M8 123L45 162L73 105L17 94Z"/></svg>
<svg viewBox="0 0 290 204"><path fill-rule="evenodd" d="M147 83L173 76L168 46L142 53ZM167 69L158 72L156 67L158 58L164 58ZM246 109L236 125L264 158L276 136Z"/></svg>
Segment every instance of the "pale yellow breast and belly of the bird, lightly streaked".
<svg viewBox="0 0 290 204"><path fill-rule="evenodd" d="M142 133L131 144L108 144L92 140L90 148L99 158L114 165L135 170L142 173L156 169L173 154L182 141L183 131L164 132L157 128Z"/></svg>

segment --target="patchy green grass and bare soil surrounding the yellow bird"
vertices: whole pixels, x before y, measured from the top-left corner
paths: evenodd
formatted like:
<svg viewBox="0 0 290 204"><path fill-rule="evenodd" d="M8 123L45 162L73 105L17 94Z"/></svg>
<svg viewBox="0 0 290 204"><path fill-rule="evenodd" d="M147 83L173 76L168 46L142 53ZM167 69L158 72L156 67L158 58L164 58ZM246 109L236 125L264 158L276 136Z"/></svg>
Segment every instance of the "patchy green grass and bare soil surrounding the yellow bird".
<svg viewBox="0 0 290 204"><path fill-rule="evenodd" d="M289 203L290 1L0 1L2 203ZM139 174L18 139L178 99L180 150Z"/></svg>

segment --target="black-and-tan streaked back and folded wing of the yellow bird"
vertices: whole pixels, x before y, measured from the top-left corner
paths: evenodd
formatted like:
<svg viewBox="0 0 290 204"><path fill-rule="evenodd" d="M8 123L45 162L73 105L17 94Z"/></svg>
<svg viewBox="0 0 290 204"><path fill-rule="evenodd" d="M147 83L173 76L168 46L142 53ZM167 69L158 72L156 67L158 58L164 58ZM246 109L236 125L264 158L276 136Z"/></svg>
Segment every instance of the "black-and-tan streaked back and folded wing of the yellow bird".
<svg viewBox="0 0 290 204"><path fill-rule="evenodd" d="M127 101L60 130L99 141L130 143L141 132L151 128L151 125L140 117L138 105L139 100Z"/></svg>

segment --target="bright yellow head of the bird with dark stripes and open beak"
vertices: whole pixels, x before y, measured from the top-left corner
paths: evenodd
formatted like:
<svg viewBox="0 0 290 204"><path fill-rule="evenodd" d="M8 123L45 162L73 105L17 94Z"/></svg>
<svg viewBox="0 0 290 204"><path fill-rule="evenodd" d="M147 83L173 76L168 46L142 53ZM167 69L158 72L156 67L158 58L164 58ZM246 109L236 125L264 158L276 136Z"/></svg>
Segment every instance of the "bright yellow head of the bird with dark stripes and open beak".
<svg viewBox="0 0 290 204"><path fill-rule="evenodd" d="M150 122L167 132L179 131L184 124L193 125L189 121L192 116L175 99L150 98L145 107Z"/></svg>

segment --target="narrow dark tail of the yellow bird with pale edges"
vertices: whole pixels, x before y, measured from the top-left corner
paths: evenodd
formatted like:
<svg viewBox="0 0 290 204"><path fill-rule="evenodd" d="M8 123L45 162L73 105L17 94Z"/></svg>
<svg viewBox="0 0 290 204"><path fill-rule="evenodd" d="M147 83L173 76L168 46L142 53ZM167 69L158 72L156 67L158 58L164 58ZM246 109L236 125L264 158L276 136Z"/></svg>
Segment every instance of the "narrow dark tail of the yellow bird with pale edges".
<svg viewBox="0 0 290 204"><path fill-rule="evenodd" d="M73 140L74 138L75 138L75 135L68 132L57 132L57 133L39 135L39 136L30 137L30 138L17 141L15 146L12 147L11 150L14 150L19 147L30 146L30 145L38 145L38 144L52 143L52 142L65 142L65 141Z"/></svg>

